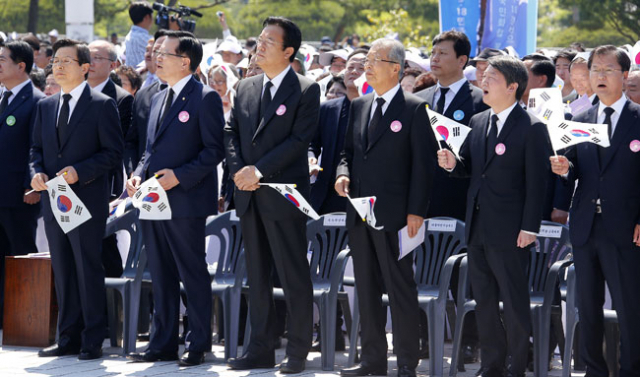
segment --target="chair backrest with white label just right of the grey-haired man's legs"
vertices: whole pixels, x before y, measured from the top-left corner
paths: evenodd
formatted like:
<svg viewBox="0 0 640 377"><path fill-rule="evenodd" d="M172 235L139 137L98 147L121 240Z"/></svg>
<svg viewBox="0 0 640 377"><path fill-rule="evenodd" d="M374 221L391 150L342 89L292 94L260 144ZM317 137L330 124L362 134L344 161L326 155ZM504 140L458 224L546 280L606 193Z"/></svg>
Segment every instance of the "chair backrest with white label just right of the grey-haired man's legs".
<svg viewBox="0 0 640 377"><path fill-rule="evenodd" d="M464 223L451 217L425 220L424 242L414 250L415 280L419 287L437 288L440 273L452 255L466 249Z"/></svg>

